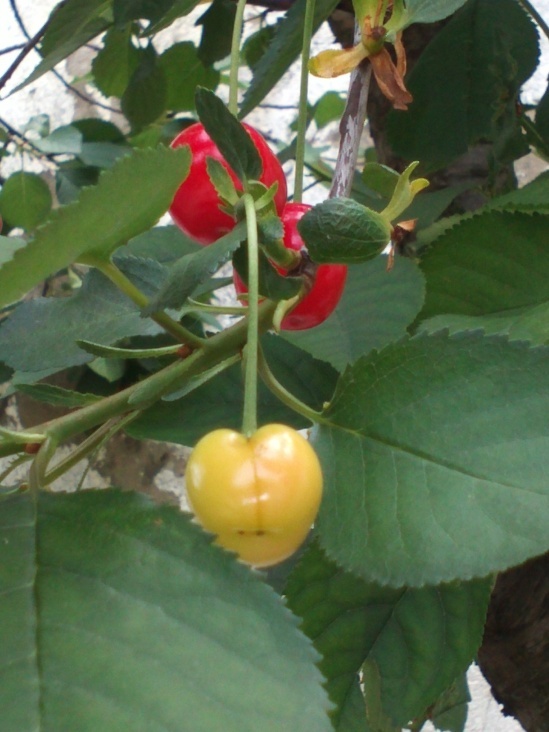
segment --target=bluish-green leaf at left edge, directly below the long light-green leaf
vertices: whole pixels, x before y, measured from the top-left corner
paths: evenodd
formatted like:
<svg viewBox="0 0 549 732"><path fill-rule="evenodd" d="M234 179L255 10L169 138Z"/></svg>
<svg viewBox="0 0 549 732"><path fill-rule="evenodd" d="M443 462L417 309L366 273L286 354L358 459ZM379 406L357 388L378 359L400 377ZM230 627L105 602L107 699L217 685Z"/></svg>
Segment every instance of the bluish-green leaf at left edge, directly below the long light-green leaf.
<svg viewBox="0 0 549 732"><path fill-rule="evenodd" d="M145 294L166 277L165 268L153 261L127 259L118 264ZM111 344L157 332L158 326L143 319L137 305L92 270L72 297L22 303L0 328L0 359L20 371L53 373L92 360L78 340Z"/></svg>

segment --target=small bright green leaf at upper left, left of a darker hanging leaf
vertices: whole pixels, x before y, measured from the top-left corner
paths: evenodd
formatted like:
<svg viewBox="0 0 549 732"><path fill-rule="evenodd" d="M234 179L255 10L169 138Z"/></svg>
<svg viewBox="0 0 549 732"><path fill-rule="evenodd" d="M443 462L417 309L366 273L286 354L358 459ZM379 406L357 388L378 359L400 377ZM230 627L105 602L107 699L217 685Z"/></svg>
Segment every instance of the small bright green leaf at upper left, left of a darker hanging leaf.
<svg viewBox="0 0 549 732"><path fill-rule="evenodd" d="M139 50L132 43L131 27L111 28L103 48L92 61L93 80L106 97L121 97L139 65Z"/></svg>

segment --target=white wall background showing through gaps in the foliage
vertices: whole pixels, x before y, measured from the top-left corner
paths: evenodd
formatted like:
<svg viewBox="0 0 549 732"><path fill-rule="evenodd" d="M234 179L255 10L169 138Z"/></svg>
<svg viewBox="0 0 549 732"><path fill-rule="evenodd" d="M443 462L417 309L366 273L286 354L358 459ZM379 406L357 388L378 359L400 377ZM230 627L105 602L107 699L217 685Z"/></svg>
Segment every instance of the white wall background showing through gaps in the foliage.
<svg viewBox="0 0 549 732"><path fill-rule="evenodd" d="M18 0L16 4L20 16L32 36L43 25L51 8L57 3L55 0ZM533 0L533 4L542 16L549 20L549 0ZM191 16L190 21L179 24L179 31L182 31L182 34L184 32L188 37L189 23L192 24L202 12L203 9L199 8ZM10 0L0 0L0 50L24 42L25 40L12 12ZM316 43L320 47L326 47L332 40L332 35L326 26L317 36ZM537 102L545 91L549 74L549 41L545 37L541 39L541 49L542 62L534 76L523 89L522 99L525 103ZM0 55L0 75L8 68L15 55L16 52ZM7 89L3 91L2 97L0 97L0 117L5 119L13 127L21 128L30 116L48 114L51 117L53 129L59 125L70 123L75 117L80 117L84 114L89 115L89 110L82 108L82 102L75 99L53 74L48 74L39 82L27 87L22 92L9 96L10 90L23 81L35 67L37 60L37 54L32 52L14 74L12 81ZM84 66L82 66L82 63L84 63ZM64 62L59 65L58 70L66 79L72 80L85 70L85 59L83 62L81 57L80 59L77 58ZM275 90L270 101L285 104L295 102L298 96L298 77L299 64L296 64L279 84L278 89ZM343 90L346 86L347 80L345 78L337 80L338 89ZM79 88L82 89L82 85L79 85ZM319 79L311 79L311 100L316 100L329 88L334 88L333 81L326 82ZM91 92L92 90L88 89L87 91ZM111 116L109 113L103 111L99 113L101 116ZM269 130L269 125L274 123L275 117L272 113L269 114L266 112L262 118L261 128L267 134L271 132L275 137L280 137L280 126L288 125L293 121L294 117L295 112L292 110L285 112L282 119L281 115L277 112L277 129ZM116 115L113 117L113 121L116 121ZM13 169L12 166L16 165L20 167L21 163L22 161L10 161L9 167L6 166L6 163L3 163L0 171L3 175L6 175L11 172L11 169ZM29 169L34 166L30 161L25 160L25 167ZM498 704L490 694L488 685L476 666L470 669L469 682L473 701L469 710L467 732L520 732L522 730L522 727L517 722L503 717ZM425 729L427 730L427 727ZM429 727L429 730L432 730L432 727Z"/></svg>

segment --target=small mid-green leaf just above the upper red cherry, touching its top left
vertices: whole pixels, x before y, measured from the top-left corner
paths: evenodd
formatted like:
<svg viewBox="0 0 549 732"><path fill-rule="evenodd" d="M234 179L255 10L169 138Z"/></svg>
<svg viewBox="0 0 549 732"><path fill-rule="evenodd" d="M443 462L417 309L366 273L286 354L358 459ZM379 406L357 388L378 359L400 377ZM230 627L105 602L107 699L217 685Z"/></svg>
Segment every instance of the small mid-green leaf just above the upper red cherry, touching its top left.
<svg viewBox="0 0 549 732"><path fill-rule="evenodd" d="M219 71L204 66L193 43L176 43L160 56L158 66L167 84L167 107L176 112L194 109L197 86L215 89Z"/></svg>

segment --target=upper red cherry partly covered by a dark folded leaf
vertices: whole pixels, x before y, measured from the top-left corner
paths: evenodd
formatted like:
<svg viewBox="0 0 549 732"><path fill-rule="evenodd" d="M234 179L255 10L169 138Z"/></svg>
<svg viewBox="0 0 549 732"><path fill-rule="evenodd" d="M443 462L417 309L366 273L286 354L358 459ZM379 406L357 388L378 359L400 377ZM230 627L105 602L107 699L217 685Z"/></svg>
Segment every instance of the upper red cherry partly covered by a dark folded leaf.
<svg viewBox="0 0 549 732"><path fill-rule="evenodd" d="M268 188L278 183L274 202L280 212L286 203L286 178L276 155L257 130L244 124L252 138L263 163L263 172L259 180ZM242 185L232 169L221 156L217 145L210 138L203 125L196 123L187 127L172 142L172 147L189 145L191 149L191 169L189 175L177 189L170 206L170 214L179 228L200 244L211 244L223 234L227 234L235 226L232 216L220 210L221 201L217 195L206 168L206 158L215 158L229 171L238 190Z"/></svg>

